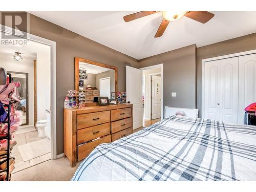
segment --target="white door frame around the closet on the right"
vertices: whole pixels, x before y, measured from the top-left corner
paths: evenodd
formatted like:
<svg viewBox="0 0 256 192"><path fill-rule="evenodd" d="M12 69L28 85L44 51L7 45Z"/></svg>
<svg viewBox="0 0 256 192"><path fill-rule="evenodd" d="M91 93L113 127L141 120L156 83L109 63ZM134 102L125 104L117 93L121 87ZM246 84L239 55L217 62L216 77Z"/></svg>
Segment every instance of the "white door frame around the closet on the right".
<svg viewBox="0 0 256 192"><path fill-rule="evenodd" d="M215 60L221 60L221 59L227 59L227 58L231 58L231 57L239 57L239 56L243 56L243 55L250 55L250 54L255 54L256 53L256 49L254 50L250 50L250 51L243 51L243 52L239 52L239 53L232 53L232 54L228 54L228 55L222 55L222 56L218 56L218 57L211 57L211 58L206 58L206 59L202 59L201 61L201 65L202 65L202 94L201 94L201 117L202 119L204 119L205 116L205 109L204 109L204 102L205 102L205 94L204 94L204 86L205 86L205 63L208 61L215 61ZM238 69L239 70L239 69ZM239 85L238 85L239 88ZM239 102L239 101L238 101Z"/></svg>

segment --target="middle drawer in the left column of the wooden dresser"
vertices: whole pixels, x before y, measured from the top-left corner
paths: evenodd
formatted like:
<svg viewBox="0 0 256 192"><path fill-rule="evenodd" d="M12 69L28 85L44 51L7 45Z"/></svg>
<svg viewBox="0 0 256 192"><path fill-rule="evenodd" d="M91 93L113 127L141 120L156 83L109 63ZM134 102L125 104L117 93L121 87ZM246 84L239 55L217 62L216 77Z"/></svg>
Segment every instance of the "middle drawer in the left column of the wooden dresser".
<svg viewBox="0 0 256 192"><path fill-rule="evenodd" d="M91 126L77 131L77 144L110 134L110 123Z"/></svg>

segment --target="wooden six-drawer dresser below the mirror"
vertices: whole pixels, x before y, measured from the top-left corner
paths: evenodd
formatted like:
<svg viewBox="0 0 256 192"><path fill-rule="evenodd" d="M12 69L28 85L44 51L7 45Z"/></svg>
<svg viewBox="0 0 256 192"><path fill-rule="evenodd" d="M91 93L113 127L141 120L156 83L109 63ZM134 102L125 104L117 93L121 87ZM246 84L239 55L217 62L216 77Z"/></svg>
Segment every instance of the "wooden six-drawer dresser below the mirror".
<svg viewBox="0 0 256 192"><path fill-rule="evenodd" d="M132 104L64 109L64 156L70 160L72 167L99 144L132 133Z"/></svg>

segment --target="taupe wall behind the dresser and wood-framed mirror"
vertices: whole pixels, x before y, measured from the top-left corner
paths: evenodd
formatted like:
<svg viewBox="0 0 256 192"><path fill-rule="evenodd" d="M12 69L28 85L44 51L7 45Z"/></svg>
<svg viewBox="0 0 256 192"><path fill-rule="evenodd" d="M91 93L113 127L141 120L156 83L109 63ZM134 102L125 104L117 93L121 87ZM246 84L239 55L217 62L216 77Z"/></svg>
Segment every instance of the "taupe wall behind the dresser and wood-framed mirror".
<svg viewBox="0 0 256 192"><path fill-rule="evenodd" d="M63 153L63 100L67 90L75 89L74 57L116 66L117 91L125 91L126 63L137 67L138 61L34 15L30 15L30 33L56 42L57 154L61 154Z"/></svg>

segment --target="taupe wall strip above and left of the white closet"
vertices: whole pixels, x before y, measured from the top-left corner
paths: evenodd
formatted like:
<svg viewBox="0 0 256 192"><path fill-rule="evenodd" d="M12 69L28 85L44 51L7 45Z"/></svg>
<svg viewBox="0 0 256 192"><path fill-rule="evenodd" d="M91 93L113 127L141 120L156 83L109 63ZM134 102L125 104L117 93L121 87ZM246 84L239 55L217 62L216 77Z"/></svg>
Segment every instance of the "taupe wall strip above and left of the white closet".
<svg viewBox="0 0 256 192"><path fill-rule="evenodd" d="M256 49L256 33L197 48L197 109L201 117L202 59Z"/></svg>

